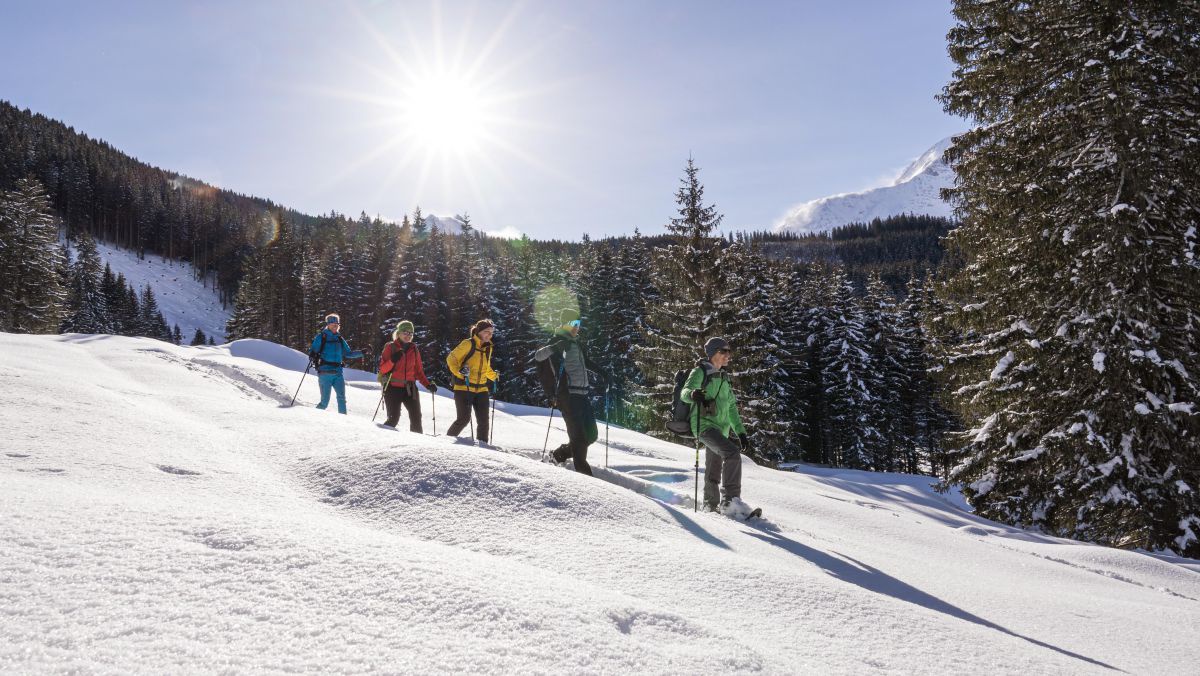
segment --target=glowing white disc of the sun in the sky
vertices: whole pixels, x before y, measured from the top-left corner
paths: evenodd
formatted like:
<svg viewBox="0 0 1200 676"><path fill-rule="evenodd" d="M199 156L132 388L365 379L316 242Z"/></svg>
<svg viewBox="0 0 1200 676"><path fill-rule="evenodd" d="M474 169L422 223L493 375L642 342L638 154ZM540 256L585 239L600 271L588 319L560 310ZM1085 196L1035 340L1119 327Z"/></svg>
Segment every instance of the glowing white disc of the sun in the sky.
<svg viewBox="0 0 1200 676"><path fill-rule="evenodd" d="M488 96L460 73L413 77L397 98L400 133L427 154L470 156L488 136Z"/></svg>

